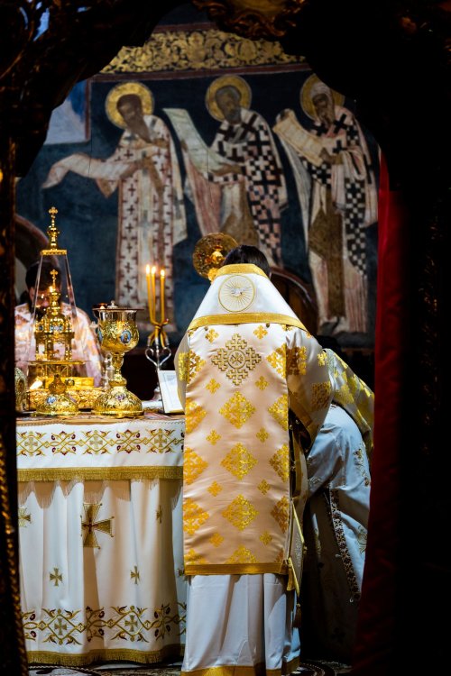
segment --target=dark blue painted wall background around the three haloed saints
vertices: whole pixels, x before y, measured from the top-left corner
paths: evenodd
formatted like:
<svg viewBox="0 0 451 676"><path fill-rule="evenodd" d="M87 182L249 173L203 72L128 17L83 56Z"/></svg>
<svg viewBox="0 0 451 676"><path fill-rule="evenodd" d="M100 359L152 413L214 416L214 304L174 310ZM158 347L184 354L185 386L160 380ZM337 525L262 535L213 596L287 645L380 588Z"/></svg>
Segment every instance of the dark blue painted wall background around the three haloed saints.
<svg viewBox="0 0 451 676"><path fill-rule="evenodd" d="M60 244L69 251L77 305L91 314L93 305L112 298L117 300L118 190L105 196L96 180L74 171L69 171L52 187L42 185L53 165L74 153L84 153L100 160L114 154L123 132L112 123L106 112L106 99L114 87L139 82L152 92L153 114L158 115L170 130L181 186L185 188L188 177L180 140L165 109L188 110L199 135L209 146L214 141L219 122L207 109L206 92L216 78L228 76L245 81L252 97L250 107L262 115L271 128L278 114L288 108L294 110L299 121L308 126L311 120L300 105L299 94L311 75L305 59L284 55L277 43L246 41L221 32L192 5L181 5L164 17L143 48L124 48L106 69L81 83L71 95L72 102L70 97L65 102L65 112L61 111L66 114L65 122L60 128L56 122L52 123L47 142L28 174L18 181L16 189L17 214L44 233L50 223L49 208L58 208ZM348 99L344 100L344 105L350 110L354 108L353 101ZM68 128L75 118L75 126ZM377 145L366 130L364 135L377 180ZM273 133L273 139L288 194L287 206L281 210L281 267L311 284L308 244L295 176L276 133ZM192 253L202 232L195 206L186 190L183 207L186 236L173 245L172 279L169 279L174 291L174 321L170 326L170 342L173 344L185 331L208 285L192 265ZM367 228L365 238L368 276L366 331L340 333L336 339L345 348L372 350L377 223ZM143 279L143 264L133 274L132 281ZM145 305L143 301L144 297L139 298L139 306ZM148 330L145 322L142 326L143 345L151 326L149 324Z"/></svg>

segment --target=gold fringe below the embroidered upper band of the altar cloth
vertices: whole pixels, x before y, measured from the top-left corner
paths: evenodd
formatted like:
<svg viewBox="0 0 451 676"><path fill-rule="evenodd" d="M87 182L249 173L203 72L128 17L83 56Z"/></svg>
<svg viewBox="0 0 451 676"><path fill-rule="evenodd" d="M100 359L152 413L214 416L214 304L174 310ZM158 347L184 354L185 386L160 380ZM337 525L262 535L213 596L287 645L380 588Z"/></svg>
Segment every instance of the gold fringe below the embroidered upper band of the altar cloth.
<svg viewBox="0 0 451 676"><path fill-rule="evenodd" d="M21 481L118 480L118 479L181 479L182 467L49 467L17 470Z"/></svg>

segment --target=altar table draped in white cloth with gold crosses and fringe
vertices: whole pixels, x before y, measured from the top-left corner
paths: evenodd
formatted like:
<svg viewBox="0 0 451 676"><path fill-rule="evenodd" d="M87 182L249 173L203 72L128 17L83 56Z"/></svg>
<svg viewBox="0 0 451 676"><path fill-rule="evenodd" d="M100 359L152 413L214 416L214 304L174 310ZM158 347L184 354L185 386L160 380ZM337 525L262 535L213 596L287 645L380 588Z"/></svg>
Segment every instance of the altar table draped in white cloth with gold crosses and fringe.
<svg viewBox="0 0 451 676"><path fill-rule="evenodd" d="M17 421L30 663L179 659L184 425L155 413Z"/></svg>

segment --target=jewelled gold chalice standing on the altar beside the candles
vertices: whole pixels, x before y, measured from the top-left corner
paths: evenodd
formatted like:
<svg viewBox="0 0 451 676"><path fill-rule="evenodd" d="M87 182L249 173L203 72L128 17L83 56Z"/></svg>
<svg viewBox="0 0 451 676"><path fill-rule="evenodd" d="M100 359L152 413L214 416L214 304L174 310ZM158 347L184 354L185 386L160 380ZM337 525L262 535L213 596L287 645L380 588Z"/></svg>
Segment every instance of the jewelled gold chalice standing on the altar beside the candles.
<svg viewBox="0 0 451 676"><path fill-rule="evenodd" d="M97 340L103 352L111 354L113 375L108 389L96 399L94 412L100 416L136 417L143 415L141 399L130 392L121 374L124 354L133 350L139 340L136 313L142 308L120 307L112 300L101 303L92 311L97 317Z"/></svg>

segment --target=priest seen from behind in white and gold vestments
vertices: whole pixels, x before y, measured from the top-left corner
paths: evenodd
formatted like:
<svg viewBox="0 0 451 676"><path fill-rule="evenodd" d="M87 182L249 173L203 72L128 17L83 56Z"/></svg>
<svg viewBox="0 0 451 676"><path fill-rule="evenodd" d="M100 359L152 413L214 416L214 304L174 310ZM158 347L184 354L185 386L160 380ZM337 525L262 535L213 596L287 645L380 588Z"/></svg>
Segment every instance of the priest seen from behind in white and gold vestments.
<svg viewBox="0 0 451 676"><path fill-rule="evenodd" d="M254 247L229 253L176 354L186 413L182 673L276 676L299 664L303 451L324 423L332 381L326 352L268 275ZM294 443L290 454L297 426L303 449Z"/></svg>

